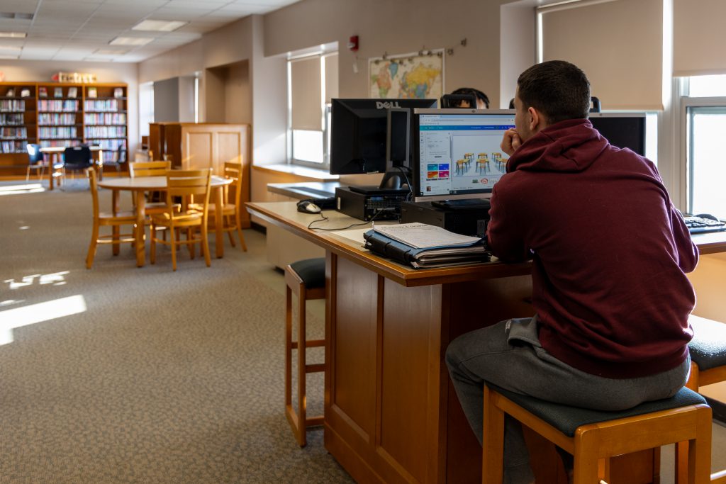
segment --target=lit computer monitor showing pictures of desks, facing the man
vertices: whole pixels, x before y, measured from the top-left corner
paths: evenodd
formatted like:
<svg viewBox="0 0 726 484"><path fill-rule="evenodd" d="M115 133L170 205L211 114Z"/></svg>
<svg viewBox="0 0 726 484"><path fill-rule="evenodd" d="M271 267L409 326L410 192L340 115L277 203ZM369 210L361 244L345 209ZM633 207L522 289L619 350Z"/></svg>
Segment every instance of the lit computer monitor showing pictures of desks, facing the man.
<svg viewBox="0 0 726 484"><path fill-rule="evenodd" d="M513 110L415 110L414 200L486 198L506 173Z"/></svg>

